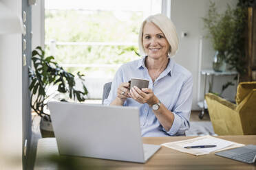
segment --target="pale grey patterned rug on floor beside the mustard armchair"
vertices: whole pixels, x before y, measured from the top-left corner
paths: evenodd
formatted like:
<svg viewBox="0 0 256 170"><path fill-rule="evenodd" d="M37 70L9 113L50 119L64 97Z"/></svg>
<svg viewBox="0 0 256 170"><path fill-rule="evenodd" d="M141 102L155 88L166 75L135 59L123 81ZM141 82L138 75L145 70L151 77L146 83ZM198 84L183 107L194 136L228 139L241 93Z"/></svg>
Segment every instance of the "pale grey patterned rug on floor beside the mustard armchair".
<svg viewBox="0 0 256 170"><path fill-rule="evenodd" d="M185 132L186 136L217 136L211 121L191 121L191 127Z"/></svg>

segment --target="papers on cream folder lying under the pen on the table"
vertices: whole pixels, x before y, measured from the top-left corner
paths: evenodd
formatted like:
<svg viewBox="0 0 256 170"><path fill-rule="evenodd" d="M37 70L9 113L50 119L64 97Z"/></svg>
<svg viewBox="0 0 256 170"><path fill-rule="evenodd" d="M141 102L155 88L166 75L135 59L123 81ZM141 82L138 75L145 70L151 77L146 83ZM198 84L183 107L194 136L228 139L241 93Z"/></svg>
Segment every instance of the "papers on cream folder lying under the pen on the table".
<svg viewBox="0 0 256 170"><path fill-rule="evenodd" d="M195 146L195 145L217 145L216 147L208 148L193 148L186 149L186 146ZM231 141L226 141L221 138L215 138L213 136L202 136L198 138L192 138L184 141L176 141L171 143L163 143L162 146L169 147L178 151L182 151L188 154L193 154L195 156L210 154L211 152L222 151L226 149L231 149L235 147L242 147L244 144L234 143Z"/></svg>

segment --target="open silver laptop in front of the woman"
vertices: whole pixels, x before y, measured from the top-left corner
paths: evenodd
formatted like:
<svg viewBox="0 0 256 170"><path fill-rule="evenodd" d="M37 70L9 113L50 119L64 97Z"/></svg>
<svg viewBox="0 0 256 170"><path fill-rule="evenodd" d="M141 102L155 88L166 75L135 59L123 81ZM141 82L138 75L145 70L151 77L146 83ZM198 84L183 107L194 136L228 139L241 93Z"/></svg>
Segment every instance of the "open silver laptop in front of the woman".
<svg viewBox="0 0 256 170"><path fill-rule="evenodd" d="M58 152L146 162L160 149L142 143L138 108L48 102Z"/></svg>

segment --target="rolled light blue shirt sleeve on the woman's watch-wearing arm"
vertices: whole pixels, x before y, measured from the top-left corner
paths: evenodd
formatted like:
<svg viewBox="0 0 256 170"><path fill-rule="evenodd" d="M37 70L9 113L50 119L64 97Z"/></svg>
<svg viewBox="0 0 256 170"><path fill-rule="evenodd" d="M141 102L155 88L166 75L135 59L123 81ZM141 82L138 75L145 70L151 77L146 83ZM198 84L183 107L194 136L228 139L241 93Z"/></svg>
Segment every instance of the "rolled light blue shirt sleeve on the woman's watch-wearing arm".
<svg viewBox="0 0 256 170"><path fill-rule="evenodd" d="M164 132L171 136L184 135L186 130L189 130L189 118L191 114L192 97L193 97L193 78L190 75L186 82L184 82L182 89L180 90L180 95L173 109L173 125L169 131L162 129Z"/></svg>

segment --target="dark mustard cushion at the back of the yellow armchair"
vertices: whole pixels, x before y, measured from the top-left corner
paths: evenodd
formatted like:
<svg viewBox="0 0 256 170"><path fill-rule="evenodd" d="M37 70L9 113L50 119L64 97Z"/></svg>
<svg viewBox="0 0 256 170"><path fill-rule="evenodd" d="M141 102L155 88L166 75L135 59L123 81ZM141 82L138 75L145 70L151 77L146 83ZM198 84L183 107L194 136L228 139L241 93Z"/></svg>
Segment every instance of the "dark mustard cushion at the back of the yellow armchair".
<svg viewBox="0 0 256 170"><path fill-rule="evenodd" d="M238 104L250 93L251 90L256 88L256 82L242 82L237 86L237 95L235 101Z"/></svg>

